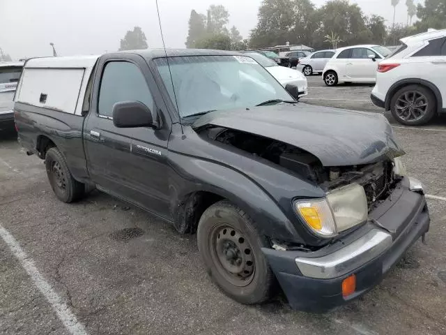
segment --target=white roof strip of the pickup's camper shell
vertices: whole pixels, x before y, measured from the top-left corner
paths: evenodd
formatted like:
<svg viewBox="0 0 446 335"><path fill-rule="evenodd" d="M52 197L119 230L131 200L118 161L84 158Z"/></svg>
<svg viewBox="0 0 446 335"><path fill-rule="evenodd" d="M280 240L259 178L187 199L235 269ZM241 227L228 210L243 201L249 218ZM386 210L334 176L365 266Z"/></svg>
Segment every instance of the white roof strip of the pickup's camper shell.
<svg viewBox="0 0 446 335"><path fill-rule="evenodd" d="M25 68L91 68L100 55L31 58Z"/></svg>

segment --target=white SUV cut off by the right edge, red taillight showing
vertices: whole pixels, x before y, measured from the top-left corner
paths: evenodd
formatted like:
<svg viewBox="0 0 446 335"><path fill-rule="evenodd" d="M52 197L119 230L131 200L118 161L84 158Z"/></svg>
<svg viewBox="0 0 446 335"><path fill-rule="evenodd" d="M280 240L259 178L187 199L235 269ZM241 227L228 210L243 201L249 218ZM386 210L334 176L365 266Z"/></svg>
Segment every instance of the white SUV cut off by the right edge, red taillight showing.
<svg viewBox="0 0 446 335"><path fill-rule="evenodd" d="M371 101L401 124L428 123L446 112L446 29L401 39L380 62Z"/></svg>

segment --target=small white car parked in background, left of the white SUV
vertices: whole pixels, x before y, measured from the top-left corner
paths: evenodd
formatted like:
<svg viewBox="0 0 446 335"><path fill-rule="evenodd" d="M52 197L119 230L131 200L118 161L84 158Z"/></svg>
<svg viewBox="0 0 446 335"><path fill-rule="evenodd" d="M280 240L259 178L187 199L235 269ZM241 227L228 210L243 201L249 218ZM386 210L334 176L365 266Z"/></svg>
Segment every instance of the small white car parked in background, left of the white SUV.
<svg viewBox="0 0 446 335"><path fill-rule="evenodd" d="M323 81L327 86L339 82L376 82L379 61L390 50L380 45L355 45L341 47L323 68Z"/></svg>

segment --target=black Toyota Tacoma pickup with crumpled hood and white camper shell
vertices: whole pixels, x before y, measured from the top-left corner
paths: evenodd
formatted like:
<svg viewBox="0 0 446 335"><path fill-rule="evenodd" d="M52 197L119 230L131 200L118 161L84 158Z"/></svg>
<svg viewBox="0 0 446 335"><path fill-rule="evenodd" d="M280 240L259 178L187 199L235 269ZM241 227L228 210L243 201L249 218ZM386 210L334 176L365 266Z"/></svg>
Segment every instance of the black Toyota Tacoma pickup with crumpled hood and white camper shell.
<svg viewBox="0 0 446 335"><path fill-rule="evenodd" d="M380 114L293 100L253 59L144 50L26 61L15 123L56 197L97 188L197 232L226 295L328 311L429 230Z"/></svg>

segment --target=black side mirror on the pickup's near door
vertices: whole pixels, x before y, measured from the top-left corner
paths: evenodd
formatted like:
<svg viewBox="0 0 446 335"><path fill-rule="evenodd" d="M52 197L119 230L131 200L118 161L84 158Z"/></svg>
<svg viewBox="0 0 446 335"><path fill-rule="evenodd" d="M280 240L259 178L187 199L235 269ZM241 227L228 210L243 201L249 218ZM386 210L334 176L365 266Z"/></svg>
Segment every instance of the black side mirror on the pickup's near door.
<svg viewBox="0 0 446 335"><path fill-rule="evenodd" d="M153 127L151 110L139 101L123 101L113 105L113 124L118 128Z"/></svg>

